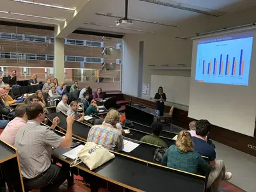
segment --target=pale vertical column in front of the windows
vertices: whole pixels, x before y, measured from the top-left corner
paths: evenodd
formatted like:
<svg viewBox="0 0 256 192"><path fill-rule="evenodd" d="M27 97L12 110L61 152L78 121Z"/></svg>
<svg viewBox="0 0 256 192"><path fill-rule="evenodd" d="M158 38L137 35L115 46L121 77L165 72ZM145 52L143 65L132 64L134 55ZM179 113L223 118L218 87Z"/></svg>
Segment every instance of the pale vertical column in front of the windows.
<svg viewBox="0 0 256 192"><path fill-rule="evenodd" d="M65 82L64 78L64 39L54 38L54 77L58 79L59 84Z"/></svg>

